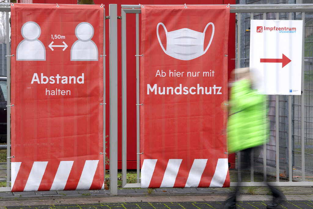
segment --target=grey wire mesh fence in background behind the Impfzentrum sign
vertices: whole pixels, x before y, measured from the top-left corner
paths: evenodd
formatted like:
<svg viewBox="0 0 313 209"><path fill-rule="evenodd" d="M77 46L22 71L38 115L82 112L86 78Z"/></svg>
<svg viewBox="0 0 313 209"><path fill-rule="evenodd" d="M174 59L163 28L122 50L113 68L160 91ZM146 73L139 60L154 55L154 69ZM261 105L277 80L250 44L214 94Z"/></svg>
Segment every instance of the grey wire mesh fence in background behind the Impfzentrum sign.
<svg viewBox="0 0 313 209"><path fill-rule="evenodd" d="M312 1L295 1L296 3L312 3ZM247 0L249 4L286 4L287 1L280 0ZM250 19L252 13L244 14L245 30L242 31L245 38L244 44L244 62L241 67L249 66L249 49L250 49ZM302 18L304 16L304 18ZM291 96L291 124L288 123L288 97L279 97L279 173L286 178L292 177L293 172L289 175L288 160L292 162L292 170L302 171L305 166L305 173L313 173L313 13L312 12L294 12L294 13L253 13L253 19L295 19L304 20L304 164L302 164L301 150L301 96ZM270 121L270 140L266 145L268 153L267 174L275 176L275 96L268 96L269 102L269 121ZM291 128L291 136L288 136L288 127ZM291 137L291 144L288 143L288 137ZM292 149L292 157L289 158L288 150ZM260 159L255 156L254 161L257 163ZM274 164L273 164L274 162ZM259 168L259 167L257 167ZM255 170L258 170L255 168ZM259 170L258 170L259 171ZM292 179L292 178L291 178Z"/></svg>

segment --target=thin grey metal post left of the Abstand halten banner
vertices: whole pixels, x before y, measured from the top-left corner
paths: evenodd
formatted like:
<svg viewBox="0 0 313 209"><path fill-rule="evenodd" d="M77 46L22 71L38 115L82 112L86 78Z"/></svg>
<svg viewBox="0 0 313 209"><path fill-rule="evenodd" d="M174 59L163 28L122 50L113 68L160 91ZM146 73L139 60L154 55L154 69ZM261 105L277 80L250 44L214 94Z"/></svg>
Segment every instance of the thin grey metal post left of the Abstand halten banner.
<svg viewBox="0 0 313 209"><path fill-rule="evenodd" d="M6 29L7 29L7 55L11 55L10 52L10 23L9 23L9 12L5 13ZM3 60L4 61L4 60ZM11 57L7 57L7 86L8 86L8 95L7 95L7 105L11 105L11 66L10 66ZM4 71L4 68L3 68ZM4 73L3 73L4 74ZM10 144L11 144L11 107L7 108L7 187L10 187Z"/></svg>

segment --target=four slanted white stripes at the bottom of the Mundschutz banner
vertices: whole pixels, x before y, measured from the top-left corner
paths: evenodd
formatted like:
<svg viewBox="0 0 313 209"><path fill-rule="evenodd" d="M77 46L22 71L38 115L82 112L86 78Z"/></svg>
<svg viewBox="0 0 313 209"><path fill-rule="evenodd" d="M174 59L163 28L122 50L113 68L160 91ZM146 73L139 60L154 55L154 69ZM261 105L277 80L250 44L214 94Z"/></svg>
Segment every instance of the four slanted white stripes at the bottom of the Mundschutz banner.
<svg viewBox="0 0 313 209"><path fill-rule="evenodd" d="M149 188L152 176L155 170L157 159L144 159L141 169L141 188ZM198 187L202 180L203 171L206 169L208 159L194 159L189 170L185 187ZM163 180L160 187L173 187L177 180L177 174L181 167L182 159L169 159L166 170L163 175ZM214 175L209 185L211 187L223 187L228 173L228 159L218 159ZM154 184L153 184L154 185Z"/></svg>

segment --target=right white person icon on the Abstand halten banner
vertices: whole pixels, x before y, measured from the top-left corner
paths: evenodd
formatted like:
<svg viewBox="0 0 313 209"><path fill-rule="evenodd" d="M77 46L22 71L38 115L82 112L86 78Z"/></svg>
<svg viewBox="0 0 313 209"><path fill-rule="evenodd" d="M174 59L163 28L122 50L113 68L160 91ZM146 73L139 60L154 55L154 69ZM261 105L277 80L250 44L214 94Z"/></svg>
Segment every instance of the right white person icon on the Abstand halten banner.
<svg viewBox="0 0 313 209"><path fill-rule="evenodd" d="M91 40L94 28L90 23L81 22L76 26L75 35L78 38L71 48L71 61L98 60L98 48Z"/></svg>

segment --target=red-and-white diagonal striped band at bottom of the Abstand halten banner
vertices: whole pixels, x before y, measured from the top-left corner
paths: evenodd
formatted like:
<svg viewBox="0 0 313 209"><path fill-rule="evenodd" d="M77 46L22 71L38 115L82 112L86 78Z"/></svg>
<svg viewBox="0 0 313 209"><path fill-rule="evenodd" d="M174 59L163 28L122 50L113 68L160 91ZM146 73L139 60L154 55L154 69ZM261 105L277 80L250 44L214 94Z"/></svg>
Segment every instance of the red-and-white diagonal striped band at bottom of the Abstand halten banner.
<svg viewBox="0 0 313 209"><path fill-rule="evenodd" d="M100 171L99 160L86 160L81 171L72 169L74 161L60 161L54 172L48 169L48 163L48 161L33 162L31 169L29 168L30 172L27 173L27 163L12 162L12 191L38 191L38 188L41 191L64 190L69 184L74 190L75 188L76 190L89 190L101 189L103 185L103 165ZM50 177L50 184L43 178L45 175ZM70 176L74 176L74 178ZM23 185L24 182L26 183Z"/></svg>

